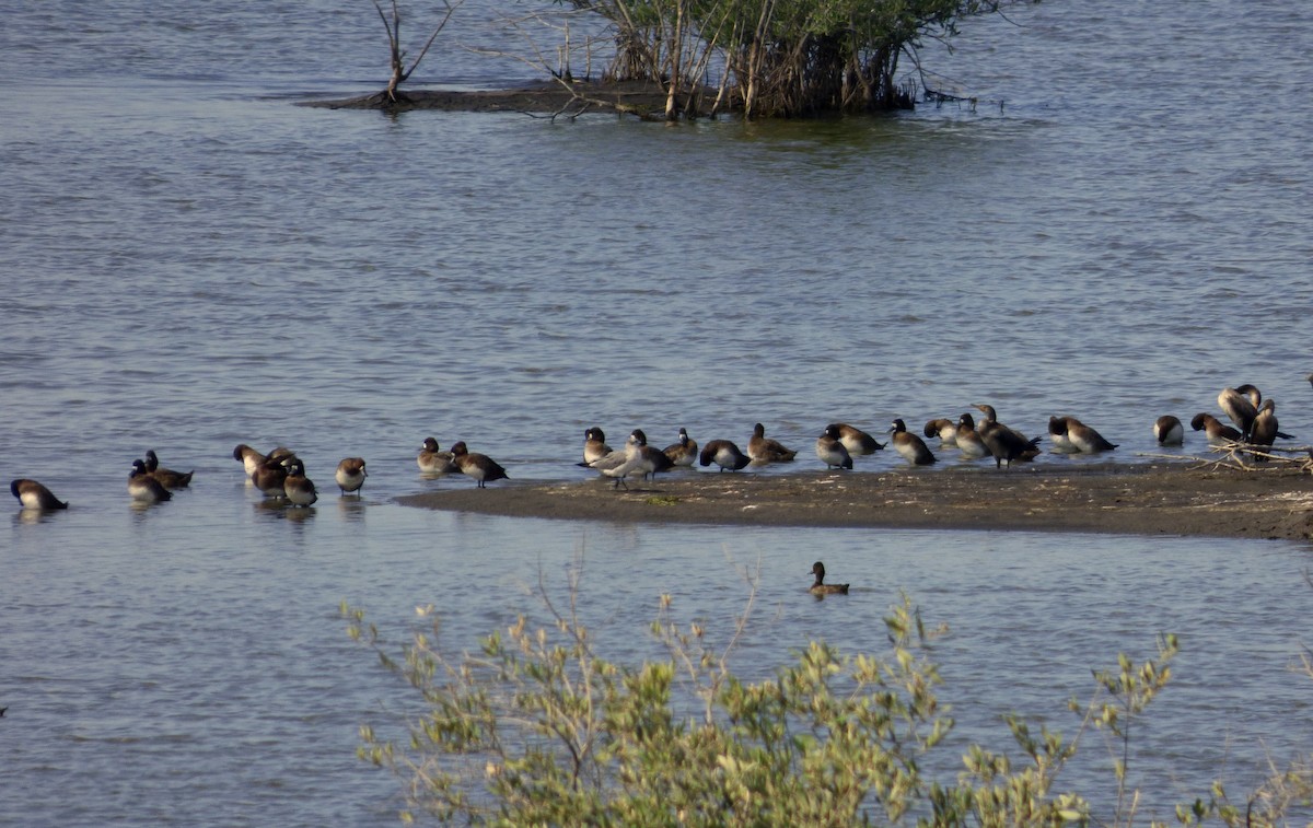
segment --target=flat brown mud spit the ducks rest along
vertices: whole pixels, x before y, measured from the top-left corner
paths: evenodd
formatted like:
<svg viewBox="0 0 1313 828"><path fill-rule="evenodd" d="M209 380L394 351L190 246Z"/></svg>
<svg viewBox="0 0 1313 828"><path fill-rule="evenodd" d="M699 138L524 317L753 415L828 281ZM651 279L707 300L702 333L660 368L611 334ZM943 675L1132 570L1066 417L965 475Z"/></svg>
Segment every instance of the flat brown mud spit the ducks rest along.
<svg viewBox="0 0 1313 828"><path fill-rule="evenodd" d="M611 480L498 483L465 478L399 503L509 517L655 524L1088 531L1313 538L1313 478L1296 467L1197 463L978 466L934 471L681 471L613 491Z"/></svg>

